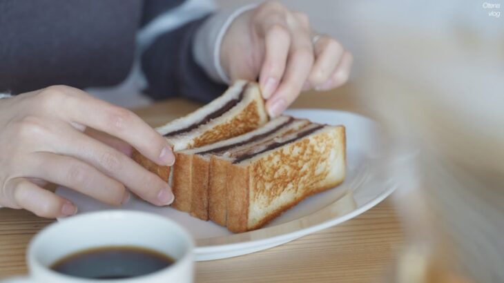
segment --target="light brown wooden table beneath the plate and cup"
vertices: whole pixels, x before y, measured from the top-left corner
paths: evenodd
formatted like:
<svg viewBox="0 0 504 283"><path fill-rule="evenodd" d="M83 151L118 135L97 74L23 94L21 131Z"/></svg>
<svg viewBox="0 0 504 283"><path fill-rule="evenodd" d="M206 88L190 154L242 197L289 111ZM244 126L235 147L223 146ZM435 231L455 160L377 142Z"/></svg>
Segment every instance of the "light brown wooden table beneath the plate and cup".
<svg viewBox="0 0 504 283"><path fill-rule="evenodd" d="M293 108L334 108L369 114L353 97L351 84L337 91L307 92ZM135 110L149 124L197 108L171 99ZM26 211L0 209L0 277L26 273L30 239L52 223ZM226 260L198 262L196 282L376 282L396 261L405 237L391 199L338 226L266 251Z"/></svg>

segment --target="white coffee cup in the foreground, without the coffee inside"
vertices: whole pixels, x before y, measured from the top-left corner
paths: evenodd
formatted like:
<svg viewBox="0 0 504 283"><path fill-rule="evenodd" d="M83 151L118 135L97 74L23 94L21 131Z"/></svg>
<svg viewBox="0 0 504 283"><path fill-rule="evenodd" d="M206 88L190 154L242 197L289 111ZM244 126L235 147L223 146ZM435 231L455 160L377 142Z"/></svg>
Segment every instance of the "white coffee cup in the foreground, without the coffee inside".
<svg viewBox="0 0 504 283"><path fill-rule="evenodd" d="M174 264L160 271L124 280L72 277L50 266L73 253L108 246L137 246L168 255ZM193 282L193 240L178 224L159 215L138 211L100 211L63 219L34 237L28 246L30 275L6 282Z"/></svg>

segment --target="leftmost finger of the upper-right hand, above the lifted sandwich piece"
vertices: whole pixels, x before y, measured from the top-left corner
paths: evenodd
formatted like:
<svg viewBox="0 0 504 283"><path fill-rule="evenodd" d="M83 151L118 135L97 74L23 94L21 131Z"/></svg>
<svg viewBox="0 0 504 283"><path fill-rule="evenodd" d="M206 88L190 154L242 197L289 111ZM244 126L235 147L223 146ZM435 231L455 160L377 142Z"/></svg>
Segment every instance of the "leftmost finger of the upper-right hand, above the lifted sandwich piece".
<svg viewBox="0 0 504 283"><path fill-rule="evenodd" d="M264 64L260 70L260 86L264 99L269 99L284 75L291 45L289 30L280 24L266 28Z"/></svg>

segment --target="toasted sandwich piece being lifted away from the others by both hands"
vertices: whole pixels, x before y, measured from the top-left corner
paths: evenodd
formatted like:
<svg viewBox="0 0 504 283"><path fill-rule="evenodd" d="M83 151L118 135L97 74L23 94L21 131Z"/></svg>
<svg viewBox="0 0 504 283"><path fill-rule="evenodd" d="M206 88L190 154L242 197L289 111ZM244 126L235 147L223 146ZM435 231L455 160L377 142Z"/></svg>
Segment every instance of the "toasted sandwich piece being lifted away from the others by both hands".
<svg viewBox="0 0 504 283"><path fill-rule="evenodd" d="M191 174L193 157L177 154L180 150L213 144L247 133L268 121L259 86L237 81L211 103L180 119L156 128L175 152L175 165L158 166L136 150L133 159L151 172L170 182L175 201L173 207L191 211Z"/></svg>

